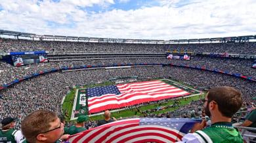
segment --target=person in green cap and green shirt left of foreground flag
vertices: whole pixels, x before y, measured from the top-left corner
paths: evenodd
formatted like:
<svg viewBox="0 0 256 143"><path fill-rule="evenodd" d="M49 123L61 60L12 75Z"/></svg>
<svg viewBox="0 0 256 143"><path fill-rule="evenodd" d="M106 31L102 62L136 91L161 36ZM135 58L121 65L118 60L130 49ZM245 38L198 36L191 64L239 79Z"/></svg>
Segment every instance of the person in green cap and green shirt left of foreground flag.
<svg viewBox="0 0 256 143"><path fill-rule="evenodd" d="M73 135L73 134L86 131L87 129L85 129L85 121L87 120L88 120L88 116L80 115L77 118L77 123L68 129L68 134Z"/></svg>

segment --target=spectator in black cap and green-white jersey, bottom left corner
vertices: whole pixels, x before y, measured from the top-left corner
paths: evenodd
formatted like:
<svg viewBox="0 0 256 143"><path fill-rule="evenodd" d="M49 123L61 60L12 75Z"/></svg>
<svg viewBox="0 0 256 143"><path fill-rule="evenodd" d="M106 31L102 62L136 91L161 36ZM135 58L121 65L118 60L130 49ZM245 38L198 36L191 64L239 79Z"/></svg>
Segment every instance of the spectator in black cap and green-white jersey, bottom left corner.
<svg viewBox="0 0 256 143"><path fill-rule="evenodd" d="M15 120L12 117L7 117L2 121L2 128L3 130L0 131L0 142L17 142L19 143L24 136L22 135L21 131L14 130Z"/></svg>

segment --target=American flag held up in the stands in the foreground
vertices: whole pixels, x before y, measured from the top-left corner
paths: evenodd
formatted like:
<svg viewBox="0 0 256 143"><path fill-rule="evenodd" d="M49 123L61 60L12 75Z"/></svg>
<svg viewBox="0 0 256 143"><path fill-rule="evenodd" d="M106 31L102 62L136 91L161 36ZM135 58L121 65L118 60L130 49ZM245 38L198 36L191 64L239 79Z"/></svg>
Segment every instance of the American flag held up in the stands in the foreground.
<svg viewBox="0 0 256 143"><path fill-rule="evenodd" d="M69 136L68 142L177 142L201 119L135 118Z"/></svg>

